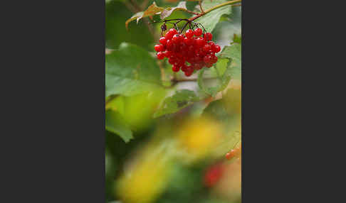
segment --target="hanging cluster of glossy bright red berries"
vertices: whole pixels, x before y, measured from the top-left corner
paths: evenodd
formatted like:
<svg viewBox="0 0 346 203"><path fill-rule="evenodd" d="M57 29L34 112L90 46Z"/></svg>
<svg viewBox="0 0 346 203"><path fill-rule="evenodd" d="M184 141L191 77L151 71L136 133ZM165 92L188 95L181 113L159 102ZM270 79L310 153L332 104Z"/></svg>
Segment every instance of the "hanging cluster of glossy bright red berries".
<svg viewBox="0 0 346 203"><path fill-rule="evenodd" d="M165 36L159 38L160 44L155 45L154 49L157 51L157 59L167 57L174 72L182 69L189 77L194 70L200 70L204 66L211 67L217 62L215 53L219 53L221 48L211 38L211 33L204 33L202 36L201 28L194 31L189 29L185 34L179 34L176 29L171 28Z"/></svg>

